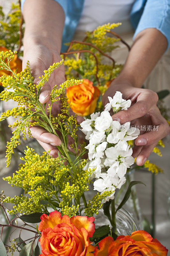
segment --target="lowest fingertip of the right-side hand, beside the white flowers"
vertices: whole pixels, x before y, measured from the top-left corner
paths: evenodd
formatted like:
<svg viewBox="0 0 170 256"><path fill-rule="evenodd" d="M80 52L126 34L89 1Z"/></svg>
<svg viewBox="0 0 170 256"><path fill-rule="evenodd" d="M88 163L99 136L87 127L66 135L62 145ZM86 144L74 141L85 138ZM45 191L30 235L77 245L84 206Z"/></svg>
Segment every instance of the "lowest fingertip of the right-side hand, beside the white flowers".
<svg viewBox="0 0 170 256"><path fill-rule="evenodd" d="M143 165L150 156L150 154L152 153L153 148L155 148L156 145L157 143L149 146L143 146L141 152L136 158L136 164L139 166Z"/></svg>

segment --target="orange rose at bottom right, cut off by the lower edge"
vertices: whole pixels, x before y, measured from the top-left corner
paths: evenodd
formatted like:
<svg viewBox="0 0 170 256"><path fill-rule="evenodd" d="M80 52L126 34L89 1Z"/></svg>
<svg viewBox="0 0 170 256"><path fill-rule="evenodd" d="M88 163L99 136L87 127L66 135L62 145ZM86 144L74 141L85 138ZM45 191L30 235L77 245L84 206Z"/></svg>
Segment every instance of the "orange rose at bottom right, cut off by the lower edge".
<svg viewBox="0 0 170 256"><path fill-rule="evenodd" d="M100 250L99 250L100 249ZM168 250L144 230L131 236L118 236L114 241L107 236L96 246L94 256L167 256Z"/></svg>

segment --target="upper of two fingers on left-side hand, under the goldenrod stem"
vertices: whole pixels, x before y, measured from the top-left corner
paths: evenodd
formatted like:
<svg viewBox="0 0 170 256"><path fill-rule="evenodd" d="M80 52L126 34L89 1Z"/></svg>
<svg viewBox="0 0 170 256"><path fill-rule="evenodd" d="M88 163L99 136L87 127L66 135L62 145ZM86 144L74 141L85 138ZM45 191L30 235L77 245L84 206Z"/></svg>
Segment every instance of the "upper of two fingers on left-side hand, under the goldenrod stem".
<svg viewBox="0 0 170 256"><path fill-rule="evenodd" d="M30 131L33 138L40 140L41 142L52 146L59 146L61 144L61 140L55 134L49 133L39 126L31 127Z"/></svg>

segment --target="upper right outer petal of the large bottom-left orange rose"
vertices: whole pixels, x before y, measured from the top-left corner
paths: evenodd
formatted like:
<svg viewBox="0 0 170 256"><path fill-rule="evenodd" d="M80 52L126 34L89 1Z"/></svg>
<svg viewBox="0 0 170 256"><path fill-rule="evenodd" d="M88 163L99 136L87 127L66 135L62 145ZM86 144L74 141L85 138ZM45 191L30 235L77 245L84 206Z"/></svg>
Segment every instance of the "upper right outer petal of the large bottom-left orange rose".
<svg viewBox="0 0 170 256"><path fill-rule="evenodd" d="M94 217L76 216L71 217L70 222L78 229L85 228L88 232L88 237L92 237L95 231Z"/></svg>

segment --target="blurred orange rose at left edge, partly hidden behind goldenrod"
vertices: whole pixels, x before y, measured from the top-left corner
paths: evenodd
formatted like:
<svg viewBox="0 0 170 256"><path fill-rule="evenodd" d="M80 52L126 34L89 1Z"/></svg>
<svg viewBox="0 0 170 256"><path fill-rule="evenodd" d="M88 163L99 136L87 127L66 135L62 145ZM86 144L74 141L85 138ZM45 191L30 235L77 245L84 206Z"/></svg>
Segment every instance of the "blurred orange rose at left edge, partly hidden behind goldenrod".
<svg viewBox="0 0 170 256"><path fill-rule="evenodd" d="M4 46L1 46L0 52L2 52L2 51L7 52L8 49L6 49ZM16 69L17 69L17 73L20 73L22 71L22 60L20 60L17 57L17 54L15 54L13 60L10 61L10 68L13 72L15 72ZM11 72L6 69L2 69L2 70L0 70L0 76L3 76L3 75L9 76L9 75L11 75Z"/></svg>

